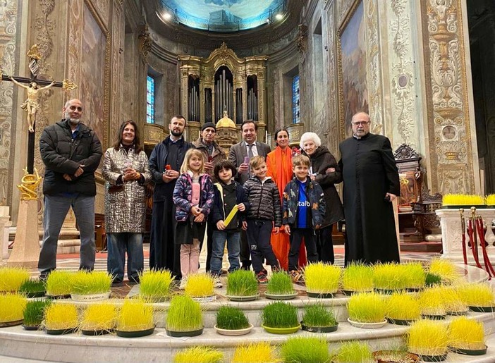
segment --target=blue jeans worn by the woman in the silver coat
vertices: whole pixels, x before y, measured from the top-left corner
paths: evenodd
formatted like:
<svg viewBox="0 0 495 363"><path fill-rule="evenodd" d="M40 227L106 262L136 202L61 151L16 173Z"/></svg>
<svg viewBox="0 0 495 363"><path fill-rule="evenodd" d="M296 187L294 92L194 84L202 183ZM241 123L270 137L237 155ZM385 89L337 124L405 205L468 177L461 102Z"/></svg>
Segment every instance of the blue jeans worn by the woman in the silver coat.
<svg viewBox="0 0 495 363"><path fill-rule="evenodd" d="M106 269L114 281L123 281L124 264L127 252L127 278L136 280L144 269L145 258L142 254L141 233L108 233L106 245L109 253L106 257Z"/></svg>

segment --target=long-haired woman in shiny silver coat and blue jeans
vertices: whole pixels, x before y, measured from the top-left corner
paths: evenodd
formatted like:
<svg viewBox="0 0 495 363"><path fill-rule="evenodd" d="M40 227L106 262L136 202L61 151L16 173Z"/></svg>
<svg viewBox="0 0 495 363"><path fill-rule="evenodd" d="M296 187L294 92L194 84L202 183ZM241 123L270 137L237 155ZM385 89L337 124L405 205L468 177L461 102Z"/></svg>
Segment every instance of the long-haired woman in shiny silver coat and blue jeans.
<svg viewBox="0 0 495 363"><path fill-rule="evenodd" d="M105 183L105 230L108 246L107 269L114 284L127 276L139 283L144 267L142 233L145 231L146 187L151 178L148 157L142 149L138 125L124 121L116 142L103 160Z"/></svg>

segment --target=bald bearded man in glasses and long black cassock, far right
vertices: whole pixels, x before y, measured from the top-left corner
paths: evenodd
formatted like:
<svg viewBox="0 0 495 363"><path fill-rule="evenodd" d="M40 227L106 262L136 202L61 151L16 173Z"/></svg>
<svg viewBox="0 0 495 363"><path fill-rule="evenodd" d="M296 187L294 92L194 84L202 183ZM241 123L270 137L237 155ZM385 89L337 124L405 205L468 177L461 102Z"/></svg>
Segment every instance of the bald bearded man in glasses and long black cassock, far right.
<svg viewBox="0 0 495 363"><path fill-rule="evenodd" d="M346 264L399 262L392 202L400 194L390 140L369 133L365 112L353 116L353 137L339 149L346 217Z"/></svg>

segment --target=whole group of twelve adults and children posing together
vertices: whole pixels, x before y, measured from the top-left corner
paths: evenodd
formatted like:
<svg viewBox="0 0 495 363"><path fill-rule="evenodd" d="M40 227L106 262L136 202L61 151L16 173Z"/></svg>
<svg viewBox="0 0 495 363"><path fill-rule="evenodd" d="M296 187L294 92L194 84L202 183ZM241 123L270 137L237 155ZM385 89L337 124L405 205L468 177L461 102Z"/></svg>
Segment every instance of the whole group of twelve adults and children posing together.
<svg viewBox="0 0 495 363"><path fill-rule="evenodd" d="M44 178L42 278L56 268L61 226L73 207L80 230L80 269L94 268L94 171L102 158L97 135L80 123L82 104L67 101L62 121L44 129L40 151ZM257 141L257 124L244 121L243 141L228 156L216 144L216 126L204 123L200 138L187 142L186 121L174 116L169 136L149 160L138 125L124 121L104 153L105 227L108 271L114 283L139 282L144 266L146 184L154 183L151 269L169 269L181 285L199 269L206 234L206 270L218 278L227 244L229 271L252 269L267 281L264 263L300 281L307 262L334 263L334 223L346 217L346 262L398 261L391 201L398 172L386 137L369 133L367 113L353 116L353 137L341 143L337 163L315 133L300 149L289 147L288 130L276 131L276 147ZM335 184L343 180L343 207Z"/></svg>

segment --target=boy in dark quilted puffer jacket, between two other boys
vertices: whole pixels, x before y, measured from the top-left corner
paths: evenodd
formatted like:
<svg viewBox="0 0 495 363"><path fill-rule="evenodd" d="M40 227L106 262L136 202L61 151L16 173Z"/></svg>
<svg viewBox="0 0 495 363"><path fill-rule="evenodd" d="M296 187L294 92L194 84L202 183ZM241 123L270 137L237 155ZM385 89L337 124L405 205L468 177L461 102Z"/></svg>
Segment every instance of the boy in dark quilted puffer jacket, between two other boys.
<svg viewBox="0 0 495 363"><path fill-rule="evenodd" d="M279 233L282 225L279 189L267 176L267 163L263 156L254 156L249 163L252 176L244 183L244 191L251 208L247 211L243 228L247 228L247 242L250 245L252 268L258 283L267 283L267 270L263 259L271 269L279 269L279 261L271 249L271 230Z"/></svg>

